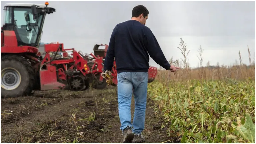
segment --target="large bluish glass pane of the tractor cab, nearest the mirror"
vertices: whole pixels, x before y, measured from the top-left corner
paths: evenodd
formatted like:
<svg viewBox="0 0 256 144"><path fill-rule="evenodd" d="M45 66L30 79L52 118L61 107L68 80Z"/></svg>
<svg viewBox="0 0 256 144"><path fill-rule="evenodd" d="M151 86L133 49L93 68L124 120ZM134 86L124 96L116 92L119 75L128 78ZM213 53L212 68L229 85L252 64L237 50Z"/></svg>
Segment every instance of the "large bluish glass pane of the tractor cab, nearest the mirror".
<svg viewBox="0 0 256 144"><path fill-rule="evenodd" d="M25 13L29 13L30 21L25 19ZM31 8L14 8L14 25L22 43L34 45L38 36L42 15L33 20Z"/></svg>

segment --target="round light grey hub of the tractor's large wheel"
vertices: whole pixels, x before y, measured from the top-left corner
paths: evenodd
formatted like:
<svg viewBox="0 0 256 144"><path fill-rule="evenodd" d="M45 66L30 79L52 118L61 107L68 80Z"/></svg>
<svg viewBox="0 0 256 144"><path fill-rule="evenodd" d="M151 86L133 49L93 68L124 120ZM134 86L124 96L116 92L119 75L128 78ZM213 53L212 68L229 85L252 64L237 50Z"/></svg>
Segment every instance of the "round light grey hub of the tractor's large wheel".
<svg viewBox="0 0 256 144"><path fill-rule="evenodd" d="M20 85L20 73L14 68L1 70L1 87L6 90L13 90Z"/></svg>

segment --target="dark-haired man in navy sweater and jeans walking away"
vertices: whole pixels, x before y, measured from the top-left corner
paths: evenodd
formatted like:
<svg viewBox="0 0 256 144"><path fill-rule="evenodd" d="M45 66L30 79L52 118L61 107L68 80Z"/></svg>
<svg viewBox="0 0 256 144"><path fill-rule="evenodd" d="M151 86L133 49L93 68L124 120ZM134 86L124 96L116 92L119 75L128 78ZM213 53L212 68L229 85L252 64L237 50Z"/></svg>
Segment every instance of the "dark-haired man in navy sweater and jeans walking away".
<svg viewBox="0 0 256 144"><path fill-rule="evenodd" d="M147 102L147 81L149 55L165 68L175 72L180 69L166 60L155 36L145 26L149 11L143 5L132 10L131 20L115 26L106 54L104 69L111 71L114 58L117 69L118 110L123 132L123 143L141 143L145 138L145 111ZM149 54L149 55L148 55ZM135 112L131 123L131 99L135 99Z"/></svg>

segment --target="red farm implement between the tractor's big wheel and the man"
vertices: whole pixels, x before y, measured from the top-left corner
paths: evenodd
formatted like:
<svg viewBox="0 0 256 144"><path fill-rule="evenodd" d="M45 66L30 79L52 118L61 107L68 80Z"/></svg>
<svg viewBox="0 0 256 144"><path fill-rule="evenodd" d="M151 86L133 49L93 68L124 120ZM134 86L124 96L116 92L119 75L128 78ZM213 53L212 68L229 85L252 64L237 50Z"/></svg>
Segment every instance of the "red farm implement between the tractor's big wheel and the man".
<svg viewBox="0 0 256 144"><path fill-rule="evenodd" d="M92 83L92 87L96 89L106 87L105 80L100 77L103 72L101 57L96 57L93 54L84 56L74 48L63 49L63 44L46 44L45 51L46 55L40 63L39 70L41 90L80 91L86 90L89 83ZM58 53L63 56L56 57ZM69 53L71 54L69 55ZM51 76L51 78L49 79L47 76Z"/></svg>

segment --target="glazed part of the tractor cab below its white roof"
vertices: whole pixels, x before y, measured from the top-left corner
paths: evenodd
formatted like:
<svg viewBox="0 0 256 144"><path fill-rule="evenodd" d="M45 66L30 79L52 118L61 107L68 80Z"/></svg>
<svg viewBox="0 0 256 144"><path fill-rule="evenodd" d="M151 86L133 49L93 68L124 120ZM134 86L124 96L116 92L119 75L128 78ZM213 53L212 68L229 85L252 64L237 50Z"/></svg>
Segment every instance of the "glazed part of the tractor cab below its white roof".
<svg viewBox="0 0 256 144"><path fill-rule="evenodd" d="M38 47L45 12L38 13L36 19L31 7L6 6L4 12L3 30L14 30L18 45Z"/></svg>

